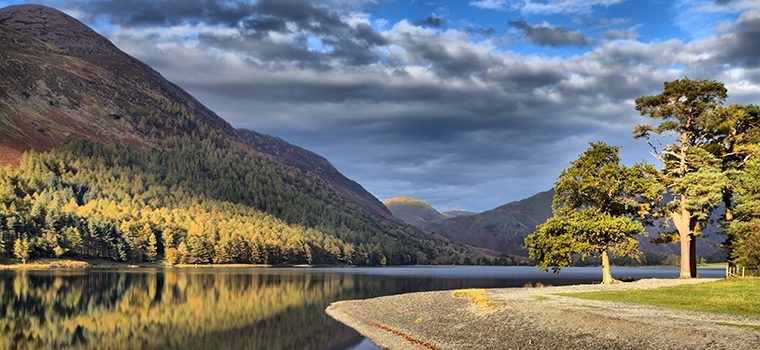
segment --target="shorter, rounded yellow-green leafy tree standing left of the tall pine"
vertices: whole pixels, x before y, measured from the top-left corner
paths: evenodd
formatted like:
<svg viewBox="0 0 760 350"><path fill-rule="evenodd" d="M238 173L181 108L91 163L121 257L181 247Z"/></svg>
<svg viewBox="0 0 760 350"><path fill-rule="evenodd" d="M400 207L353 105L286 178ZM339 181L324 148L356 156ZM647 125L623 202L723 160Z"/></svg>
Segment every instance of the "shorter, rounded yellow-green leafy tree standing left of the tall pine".
<svg viewBox="0 0 760 350"><path fill-rule="evenodd" d="M660 188L647 164L620 164L619 147L592 143L572 165L563 170L555 186L554 217L539 225L526 238L531 259L542 270L558 272L573 263L573 256L600 256L602 283L615 280L610 254L638 256L635 236L645 234L634 220L644 207L639 204Z"/></svg>

